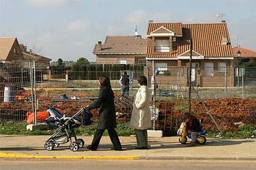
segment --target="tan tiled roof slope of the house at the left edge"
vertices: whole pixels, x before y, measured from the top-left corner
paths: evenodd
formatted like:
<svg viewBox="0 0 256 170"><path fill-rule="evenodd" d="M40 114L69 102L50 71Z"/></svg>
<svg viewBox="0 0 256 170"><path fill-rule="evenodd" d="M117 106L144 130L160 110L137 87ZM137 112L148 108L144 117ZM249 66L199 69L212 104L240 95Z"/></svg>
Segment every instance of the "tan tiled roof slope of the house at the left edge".
<svg viewBox="0 0 256 170"><path fill-rule="evenodd" d="M15 39L15 37L0 37L0 60L7 59Z"/></svg>

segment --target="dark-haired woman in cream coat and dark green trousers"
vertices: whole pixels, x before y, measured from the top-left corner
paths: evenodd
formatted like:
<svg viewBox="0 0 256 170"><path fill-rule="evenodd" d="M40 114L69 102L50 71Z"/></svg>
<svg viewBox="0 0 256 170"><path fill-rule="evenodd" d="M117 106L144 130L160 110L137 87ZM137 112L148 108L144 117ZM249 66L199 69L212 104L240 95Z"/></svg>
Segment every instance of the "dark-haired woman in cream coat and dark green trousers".
<svg viewBox="0 0 256 170"><path fill-rule="evenodd" d="M133 103L130 127L134 128L136 134L137 147L135 148L148 149L147 129L151 127L151 115L149 108L151 94L148 89L148 81L145 76L140 76L137 81L140 89L138 90Z"/></svg>

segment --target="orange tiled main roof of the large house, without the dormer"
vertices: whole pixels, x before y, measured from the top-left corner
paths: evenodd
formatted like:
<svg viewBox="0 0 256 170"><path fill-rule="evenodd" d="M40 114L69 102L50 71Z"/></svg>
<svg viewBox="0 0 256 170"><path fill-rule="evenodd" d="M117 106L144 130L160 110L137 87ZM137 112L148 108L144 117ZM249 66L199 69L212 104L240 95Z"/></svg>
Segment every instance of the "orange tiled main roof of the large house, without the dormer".
<svg viewBox="0 0 256 170"><path fill-rule="evenodd" d="M222 44L223 36L228 38L226 45ZM193 50L205 57L233 57L226 23L182 24L182 38L177 38L176 51L159 54L153 52L152 47L147 47L147 57L177 57L189 50L190 38L193 39Z"/></svg>

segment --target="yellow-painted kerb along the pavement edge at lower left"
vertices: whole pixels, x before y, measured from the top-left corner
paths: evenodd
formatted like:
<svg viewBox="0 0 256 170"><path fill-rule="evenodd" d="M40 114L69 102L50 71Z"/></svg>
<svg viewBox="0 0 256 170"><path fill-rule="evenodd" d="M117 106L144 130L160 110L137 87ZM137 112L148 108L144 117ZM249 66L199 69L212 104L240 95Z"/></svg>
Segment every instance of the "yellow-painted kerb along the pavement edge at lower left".
<svg viewBox="0 0 256 170"><path fill-rule="evenodd" d="M139 156L40 156L20 153L0 152L0 158L30 158L30 159L77 159L77 160L139 160Z"/></svg>

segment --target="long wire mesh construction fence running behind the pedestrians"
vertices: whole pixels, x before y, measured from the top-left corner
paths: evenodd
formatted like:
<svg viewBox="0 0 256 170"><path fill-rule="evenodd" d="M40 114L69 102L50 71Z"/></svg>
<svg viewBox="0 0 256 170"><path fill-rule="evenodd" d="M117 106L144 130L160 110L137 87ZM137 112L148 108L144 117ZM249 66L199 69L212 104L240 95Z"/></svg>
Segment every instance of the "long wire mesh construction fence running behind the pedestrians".
<svg viewBox="0 0 256 170"><path fill-rule="evenodd" d="M188 108L188 68L157 69L160 74L156 76L156 107L160 112L156 129L177 129L182 121L182 113ZM134 79L130 86L130 97L126 100L121 99L119 84L123 70ZM222 130L234 130L234 122L237 121L255 124L256 68L244 68L243 71L231 67L206 70L192 68L191 71L194 86L191 94L192 113L203 119L203 126L215 128L208 112ZM40 62L1 63L0 119L23 121L28 112L46 110L48 107L56 107L72 115L98 96L98 77L103 74L111 78L117 112L126 113L125 118L129 118L132 96L139 87L135 80L145 75L151 86L152 73L153 70L145 65L74 64L48 67L48 64ZM62 94L68 100L62 99Z"/></svg>

